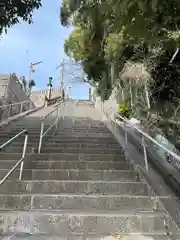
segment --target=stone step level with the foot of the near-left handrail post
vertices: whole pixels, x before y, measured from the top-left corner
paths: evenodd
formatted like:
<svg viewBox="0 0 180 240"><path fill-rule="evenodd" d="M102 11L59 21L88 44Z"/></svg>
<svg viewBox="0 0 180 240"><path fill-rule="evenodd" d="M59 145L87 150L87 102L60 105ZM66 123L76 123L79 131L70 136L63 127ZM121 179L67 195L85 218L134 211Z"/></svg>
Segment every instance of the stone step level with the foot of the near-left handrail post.
<svg viewBox="0 0 180 240"><path fill-rule="evenodd" d="M24 170L24 176L32 173L33 180L105 180L130 181L137 178L137 173L129 170Z"/></svg>

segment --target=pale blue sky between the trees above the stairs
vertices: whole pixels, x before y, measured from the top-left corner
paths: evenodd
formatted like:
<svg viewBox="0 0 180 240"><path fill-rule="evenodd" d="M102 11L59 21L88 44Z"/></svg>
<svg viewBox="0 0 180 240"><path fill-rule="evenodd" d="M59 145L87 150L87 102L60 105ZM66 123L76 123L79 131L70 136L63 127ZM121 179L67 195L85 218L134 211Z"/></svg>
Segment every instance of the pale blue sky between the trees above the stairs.
<svg viewBox="0 0 180 240"><path fill-rule="evenodd" d="M30 62L43 61L36 66L33 79L36 88L46 87L48 78L59 76L56 67L62 62L64 54L64 40L71 33L72 28L64 28L59 20L59 0L43 0L43 7L33 14L32 25L22 22L8 30L0 41L0 74L15 72L18 77L28 78ZM68 76L65 75L65 82ZM54 82L55 85L58 80ZM87 98L88 86L85 84L71 84L72 97Z"/></svg>

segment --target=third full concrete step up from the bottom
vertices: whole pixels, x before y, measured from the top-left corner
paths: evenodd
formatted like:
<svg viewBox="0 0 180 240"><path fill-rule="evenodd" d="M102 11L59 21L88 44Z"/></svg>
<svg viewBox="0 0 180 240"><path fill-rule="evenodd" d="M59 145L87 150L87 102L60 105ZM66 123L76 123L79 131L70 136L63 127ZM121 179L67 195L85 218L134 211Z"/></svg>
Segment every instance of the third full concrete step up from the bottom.
<svg viewBox="0 0 180 240"><path fill-rule="evenodd" d="M109 181L7 181L0 194L77 194L152 196L145 183Z"/></svg>

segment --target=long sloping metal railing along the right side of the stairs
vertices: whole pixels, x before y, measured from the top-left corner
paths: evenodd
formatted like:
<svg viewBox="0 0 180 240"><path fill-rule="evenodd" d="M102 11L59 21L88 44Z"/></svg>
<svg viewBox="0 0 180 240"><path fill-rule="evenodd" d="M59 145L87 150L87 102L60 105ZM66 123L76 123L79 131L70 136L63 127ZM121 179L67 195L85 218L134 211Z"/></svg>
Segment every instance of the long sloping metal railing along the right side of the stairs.
<svg viewBox="0 0 180 240"><path fill-rule="evenodd" d="M177 155L176 153L172 152L169 150L167 147L163 146L162 144L158 143L155 139L153 139L151 136L149 136L147 133L143 132L136 126L134 126L132 123L130 123L127 119L123 118L121 115L115 112L115 109L110 108L108 111L104 111L104 108L102 106L103 113L105 116L111 120L113 127L116 125L120 126L123 128L124 131L124 139L125 139L125 150L128 150L128 129L127 127L131 127L131 129L135 130L136 133L139 134L140 136L140 141L141 141L141 146L143 149L143 157L144 157L144 165L146 171L148 171L148 155L147 155L147 148L149 147L150 144L152 146L158 147L160 150L164 151L167 156L167 162L171 164L171 166L174 168L174 170L180 172L180 156ZM110 117L110 112L113 112ZM112 117L113 116L113 117ZM120 119L122 123L118 123L117 119ZM123 127L123 123L126 125Z"/></svg>

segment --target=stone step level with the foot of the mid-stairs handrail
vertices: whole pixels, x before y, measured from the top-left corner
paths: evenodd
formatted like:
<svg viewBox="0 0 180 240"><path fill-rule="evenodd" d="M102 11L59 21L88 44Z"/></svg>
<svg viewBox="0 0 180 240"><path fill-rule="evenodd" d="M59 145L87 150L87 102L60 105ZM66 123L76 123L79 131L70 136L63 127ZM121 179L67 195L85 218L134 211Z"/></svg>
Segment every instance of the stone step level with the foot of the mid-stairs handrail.
<svg viewBox="0 0 180 240"><path fill-rule="evenodd" d="M15 149L15 147L13 148L14 152L18 151L18 148ZM101 153L101 154L106 154L106 153L114 153L114 154L122 154L123 153L123 149L121 148L58 148L58 147L48 147L45 146L42 148L42 152L43 153Z"/></svg>

